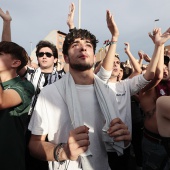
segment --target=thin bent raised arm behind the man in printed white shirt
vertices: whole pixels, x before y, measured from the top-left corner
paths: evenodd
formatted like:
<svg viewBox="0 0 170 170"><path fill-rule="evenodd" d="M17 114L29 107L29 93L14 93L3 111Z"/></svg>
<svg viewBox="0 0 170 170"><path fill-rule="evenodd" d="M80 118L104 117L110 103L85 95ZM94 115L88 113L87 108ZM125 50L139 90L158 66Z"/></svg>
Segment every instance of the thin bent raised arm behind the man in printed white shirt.
<svg viewBox="0 0 170 170"><path fill-rule="evenodd" d="M137 62L136 58L132 55L130 51L130 45L128 42L125 42L125 53L128 55L130 63L133 67L133 73L129 76L129 78L132 78L138 74L141 74L142 69L140 67L140 64Z"/></svg>

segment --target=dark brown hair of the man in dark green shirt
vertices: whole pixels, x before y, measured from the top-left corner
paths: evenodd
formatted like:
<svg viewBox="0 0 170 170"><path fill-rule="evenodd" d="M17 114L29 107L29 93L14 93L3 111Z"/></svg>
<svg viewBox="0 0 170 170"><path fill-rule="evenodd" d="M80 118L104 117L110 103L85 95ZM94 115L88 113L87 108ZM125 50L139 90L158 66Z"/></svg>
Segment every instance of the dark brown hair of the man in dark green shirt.
<svg viewBox="0 0 170 170"><path fill-rule="evenodd" d="M14 42L1 41L0 52L10 54L13 58L21 61L17 71L21 70L28 63L28 54L25 49Z"/></svg>

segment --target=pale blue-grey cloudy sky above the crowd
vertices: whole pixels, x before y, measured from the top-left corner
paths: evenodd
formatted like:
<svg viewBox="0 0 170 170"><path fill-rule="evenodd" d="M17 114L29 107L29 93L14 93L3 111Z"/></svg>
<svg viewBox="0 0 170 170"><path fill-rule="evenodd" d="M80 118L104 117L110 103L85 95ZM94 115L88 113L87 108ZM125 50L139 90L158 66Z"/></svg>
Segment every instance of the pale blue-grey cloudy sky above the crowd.
<svg viewBox="0 0 170 170"><path fill-rule="evenodd" d="M78 0L0 0L0 7L9 10L12 16L12 41L30 54L31 44L33 49L50 31L68 32L66 19L71 2L76 5L75 25L78 27ZM97 50L110 39L105 19L107 9L114 15L120 30L117 53L122 61L127 59L124 42L130 43L136 58L138 50L151 56L154 46L148 32L155 24L162 32L170 27L169 0L81 0L81 27L96 35L99 40ZM159 21L154 22L155 19ZM169 44L170 41L166 43Z"/></svg>

